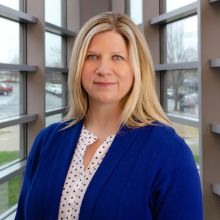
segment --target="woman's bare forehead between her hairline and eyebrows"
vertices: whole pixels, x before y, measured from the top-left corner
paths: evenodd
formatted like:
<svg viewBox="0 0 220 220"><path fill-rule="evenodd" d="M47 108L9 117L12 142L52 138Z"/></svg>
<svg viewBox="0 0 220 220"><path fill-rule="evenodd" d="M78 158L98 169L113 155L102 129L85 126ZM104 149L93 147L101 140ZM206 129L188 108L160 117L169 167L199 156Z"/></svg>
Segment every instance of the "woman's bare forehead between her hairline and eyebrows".
<svg viewBox="0 0 220 220"><path fill-rule="evenodd" d="M127 51L127 44L123 36L115 31L105 31L95 34L90 43L88 50L99 48L120 49Z"/></svg>

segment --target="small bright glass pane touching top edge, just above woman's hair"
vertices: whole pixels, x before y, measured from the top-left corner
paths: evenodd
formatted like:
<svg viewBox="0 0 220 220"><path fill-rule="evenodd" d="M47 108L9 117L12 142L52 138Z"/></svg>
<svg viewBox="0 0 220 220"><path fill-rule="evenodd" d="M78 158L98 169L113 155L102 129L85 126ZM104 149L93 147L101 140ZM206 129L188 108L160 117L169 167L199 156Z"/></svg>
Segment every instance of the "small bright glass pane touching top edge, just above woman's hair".
<svg viewBox="0 0 220 220"><path fill-rule="evenodd" d="M136 24L142 23L142 0L130 0L130 16Z"/></svg>

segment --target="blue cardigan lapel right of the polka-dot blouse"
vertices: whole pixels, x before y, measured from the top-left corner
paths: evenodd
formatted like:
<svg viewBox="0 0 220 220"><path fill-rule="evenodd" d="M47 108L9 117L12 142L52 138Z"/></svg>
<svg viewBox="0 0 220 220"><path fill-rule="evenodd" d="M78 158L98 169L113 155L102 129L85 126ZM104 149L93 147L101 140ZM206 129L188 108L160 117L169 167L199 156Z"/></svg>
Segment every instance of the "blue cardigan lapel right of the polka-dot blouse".
<svg viewBox="0 0 220 220"><path fill-rule="evenodd" d="M94 174L84 195L80 208L79 220L88 220L91 217L93 206L103 186L110 177L122 156L126 153L136 135L136 129L123 126L112 142L105 158Z"/></svg>

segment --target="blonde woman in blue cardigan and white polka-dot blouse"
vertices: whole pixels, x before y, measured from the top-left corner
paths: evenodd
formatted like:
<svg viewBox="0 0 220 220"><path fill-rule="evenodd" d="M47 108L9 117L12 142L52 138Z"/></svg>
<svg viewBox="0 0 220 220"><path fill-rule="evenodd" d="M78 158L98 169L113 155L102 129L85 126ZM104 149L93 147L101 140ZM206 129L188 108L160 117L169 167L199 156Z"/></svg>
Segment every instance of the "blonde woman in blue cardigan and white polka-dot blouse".
<svg viewBox="0 0 220 220"><path fill-rule="evenodd" d="M111 12L87 21L68 80L67 118L37 136L16 219L202 219L192 153L159 104L135 24Z"/></svg>

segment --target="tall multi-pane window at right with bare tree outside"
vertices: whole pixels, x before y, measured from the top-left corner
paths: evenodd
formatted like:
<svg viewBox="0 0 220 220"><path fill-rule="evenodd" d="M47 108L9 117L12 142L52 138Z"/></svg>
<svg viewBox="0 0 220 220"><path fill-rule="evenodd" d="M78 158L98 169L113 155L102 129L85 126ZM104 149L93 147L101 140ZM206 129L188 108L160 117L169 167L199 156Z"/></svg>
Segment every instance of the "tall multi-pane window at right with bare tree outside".
<svg viewBox="0 0 220 220"><path fill-rule="evenodd" d="M166 18L160 25L160 58L164 66L160 72L160 97L165 112L190 146L199 166L198 16L193 2L160 1ZM169 11L175 12L175 16Z"/></svg>

